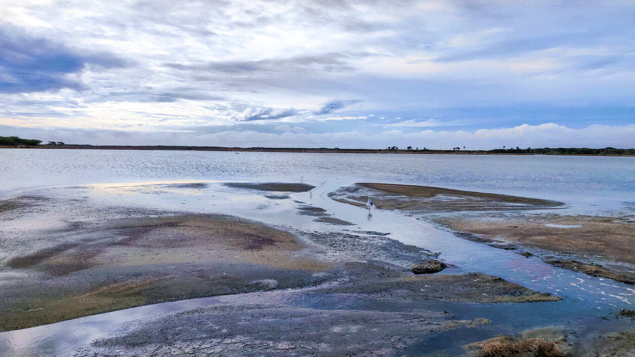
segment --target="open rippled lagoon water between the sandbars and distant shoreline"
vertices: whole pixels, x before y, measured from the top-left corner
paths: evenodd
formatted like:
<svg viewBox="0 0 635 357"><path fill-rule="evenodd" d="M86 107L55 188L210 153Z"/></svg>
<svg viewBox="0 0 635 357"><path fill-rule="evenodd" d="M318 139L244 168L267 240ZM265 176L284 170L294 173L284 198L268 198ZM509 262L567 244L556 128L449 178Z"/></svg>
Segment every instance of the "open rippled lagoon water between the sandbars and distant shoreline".
<svg viewBox="0 0 635 357"><path fill-rule="evenodd" d="M0 192L147 180L388 182L629 210L635 157L0 149Z"/></svg>

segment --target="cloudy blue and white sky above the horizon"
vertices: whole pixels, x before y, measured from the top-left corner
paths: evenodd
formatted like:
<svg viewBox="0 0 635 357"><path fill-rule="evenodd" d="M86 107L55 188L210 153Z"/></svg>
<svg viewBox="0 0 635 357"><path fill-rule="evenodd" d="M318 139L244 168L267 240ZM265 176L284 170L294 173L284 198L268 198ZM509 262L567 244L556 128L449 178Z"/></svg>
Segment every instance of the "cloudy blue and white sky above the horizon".
<svg viewBox="0 0 635 357"><path fill-rule="evenodd" d="M635 147L635 0L0 0L0 135Z"/></svg>

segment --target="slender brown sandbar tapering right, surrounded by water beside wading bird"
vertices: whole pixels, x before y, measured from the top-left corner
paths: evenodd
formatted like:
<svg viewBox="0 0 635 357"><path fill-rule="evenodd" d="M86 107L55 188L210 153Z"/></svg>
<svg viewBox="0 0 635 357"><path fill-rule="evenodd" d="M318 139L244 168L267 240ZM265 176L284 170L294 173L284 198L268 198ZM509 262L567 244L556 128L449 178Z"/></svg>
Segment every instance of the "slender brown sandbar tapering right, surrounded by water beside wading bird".
<svg viewBox="0 0 635 357"><path fill-rule="evenodd" d="M419 212L535 210L564 205L547 199L399 184L359 183L342 187L329 196L356 206L366 205L370 198L383 210Z"/></svg>

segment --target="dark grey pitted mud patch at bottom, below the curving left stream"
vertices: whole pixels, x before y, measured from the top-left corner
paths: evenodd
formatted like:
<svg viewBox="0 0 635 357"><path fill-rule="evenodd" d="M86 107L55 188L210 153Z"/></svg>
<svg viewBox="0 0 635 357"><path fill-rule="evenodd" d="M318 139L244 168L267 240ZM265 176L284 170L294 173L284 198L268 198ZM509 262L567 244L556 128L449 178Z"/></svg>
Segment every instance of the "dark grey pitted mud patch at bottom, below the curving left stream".
<svg viewBox="0 0 635 357"><path fill-rule="evenodd" d="M228 318L231 316L231 318ZM488 320L444 312L350 311L224 304L162 316L79 351L90 356L392 356L422 337Z"/></svg>

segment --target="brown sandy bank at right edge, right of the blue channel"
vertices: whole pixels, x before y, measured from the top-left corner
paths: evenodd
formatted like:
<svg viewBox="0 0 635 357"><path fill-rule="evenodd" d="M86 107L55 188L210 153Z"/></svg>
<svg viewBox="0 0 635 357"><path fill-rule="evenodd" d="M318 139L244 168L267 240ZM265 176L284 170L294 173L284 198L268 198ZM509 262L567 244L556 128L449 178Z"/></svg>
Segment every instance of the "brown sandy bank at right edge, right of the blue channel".
<svg viewBox="0 0 635 357"><path fill-rule="evenodd" d="M436 222L465 237L538 248L533 253L554 266L635 283L635 222L614 217L531 215L531 217L439 217ZM509 246L513 248L513 246Z"/></svg>

